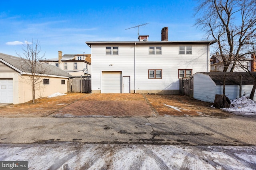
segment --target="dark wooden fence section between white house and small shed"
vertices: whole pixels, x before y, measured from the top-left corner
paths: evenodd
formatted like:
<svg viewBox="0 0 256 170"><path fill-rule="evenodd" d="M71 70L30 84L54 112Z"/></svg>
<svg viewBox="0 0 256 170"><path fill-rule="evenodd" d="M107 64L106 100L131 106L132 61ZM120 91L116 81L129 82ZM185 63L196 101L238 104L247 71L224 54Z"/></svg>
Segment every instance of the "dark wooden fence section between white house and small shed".
<svg viewBox="0 0 256 170"><path fill-rule="evenodd" d="M180 79L180 95L189 96L193 98L193 77Z"/></svg>

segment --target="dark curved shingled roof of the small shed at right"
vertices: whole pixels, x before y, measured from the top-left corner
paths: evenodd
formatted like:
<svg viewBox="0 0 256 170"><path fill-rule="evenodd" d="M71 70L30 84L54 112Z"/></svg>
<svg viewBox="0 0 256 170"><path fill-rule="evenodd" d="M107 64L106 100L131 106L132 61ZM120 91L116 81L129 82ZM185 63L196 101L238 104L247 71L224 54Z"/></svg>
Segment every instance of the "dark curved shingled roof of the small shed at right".
<svg viewBox="0 0 256 170"><path fill-rule="evenodd" d="M210 76L216 85L223 85L224 75L226 75L226 85L239 85L240 74L242 74L242 85L254 83L254 78L248 72L198 72ZM256 76L256 72L251 72Z"/></svg>

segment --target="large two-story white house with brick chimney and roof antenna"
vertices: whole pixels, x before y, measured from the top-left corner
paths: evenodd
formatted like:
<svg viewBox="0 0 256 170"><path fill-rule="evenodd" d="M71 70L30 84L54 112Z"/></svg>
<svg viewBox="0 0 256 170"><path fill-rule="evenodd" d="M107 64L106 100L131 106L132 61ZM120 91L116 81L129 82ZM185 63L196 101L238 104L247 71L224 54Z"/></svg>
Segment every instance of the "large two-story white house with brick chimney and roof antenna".
<svg viewBox="0 0 256 170"><path fill-rule="evenodd" d="M210 45L216 41L94 42L91 47L92 93L179 94L179 79L210 71Z"/></svg>

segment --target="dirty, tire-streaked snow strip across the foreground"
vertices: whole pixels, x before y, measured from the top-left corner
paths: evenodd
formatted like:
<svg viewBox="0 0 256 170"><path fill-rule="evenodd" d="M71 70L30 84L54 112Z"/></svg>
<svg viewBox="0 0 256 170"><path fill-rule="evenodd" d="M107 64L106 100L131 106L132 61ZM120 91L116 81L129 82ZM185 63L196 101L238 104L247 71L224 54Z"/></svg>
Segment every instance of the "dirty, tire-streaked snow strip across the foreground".
<svg viewBox="0 0 256 170"><path fill-rule="evenodd" d="M1 144L0 160L28 161L28 169L253 170L256 147Z"/></svg>

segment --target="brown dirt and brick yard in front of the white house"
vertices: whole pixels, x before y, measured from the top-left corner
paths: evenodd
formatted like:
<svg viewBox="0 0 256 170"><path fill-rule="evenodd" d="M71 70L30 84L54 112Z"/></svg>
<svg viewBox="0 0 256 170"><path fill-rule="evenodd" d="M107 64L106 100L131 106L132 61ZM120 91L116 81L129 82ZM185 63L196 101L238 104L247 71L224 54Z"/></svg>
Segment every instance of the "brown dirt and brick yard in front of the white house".
<svg viewBox="0 0 256 170"><path fill-rule="evenodd" d="M211 105L208 102L180 95L67 93L64 96L38 99L35 104L27 102L1 106L0 116L45 117L68 113L78 117L92 114L102 116L228 117L227 112L212 108ZM109 109L110 107L112 109Z"/></svg>

